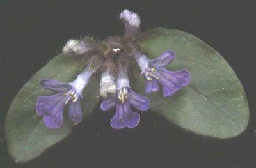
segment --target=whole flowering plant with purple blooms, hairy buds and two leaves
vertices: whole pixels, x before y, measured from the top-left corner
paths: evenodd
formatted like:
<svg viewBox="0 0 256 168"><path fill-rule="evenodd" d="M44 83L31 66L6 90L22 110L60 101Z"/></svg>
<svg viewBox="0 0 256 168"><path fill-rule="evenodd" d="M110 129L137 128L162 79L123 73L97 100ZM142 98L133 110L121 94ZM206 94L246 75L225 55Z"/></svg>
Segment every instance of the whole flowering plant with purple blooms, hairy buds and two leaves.
<svg viewBox="0 0 256 168"><path fill-rule="evenodd" d="M95 109L115 109L109 119L115 129L140 128L140 111L214 138L234 137L246 128L243 87L218 52L182 31L141 32L140 17L129 10L119 16L124 36L68 40L63 53L17 94L5 123L16 162L67 137Z"/></svg>

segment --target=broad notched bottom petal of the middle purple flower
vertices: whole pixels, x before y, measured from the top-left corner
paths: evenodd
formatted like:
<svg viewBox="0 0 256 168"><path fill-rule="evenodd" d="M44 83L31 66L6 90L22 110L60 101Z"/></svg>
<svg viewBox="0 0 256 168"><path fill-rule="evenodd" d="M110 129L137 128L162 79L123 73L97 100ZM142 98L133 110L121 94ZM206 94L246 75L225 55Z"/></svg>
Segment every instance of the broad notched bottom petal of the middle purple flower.
<svg viewBox="0 0 256 168"><path fill-rule="evenodd" d="M134 128L138 125L139 121L140 115L136 112L133 112L127 102L118 102L116 105L115 115L111 119L111 126L115 129L124 127Z"/></svg>

